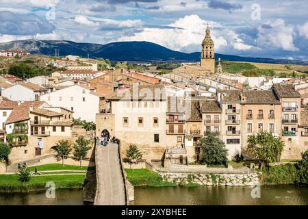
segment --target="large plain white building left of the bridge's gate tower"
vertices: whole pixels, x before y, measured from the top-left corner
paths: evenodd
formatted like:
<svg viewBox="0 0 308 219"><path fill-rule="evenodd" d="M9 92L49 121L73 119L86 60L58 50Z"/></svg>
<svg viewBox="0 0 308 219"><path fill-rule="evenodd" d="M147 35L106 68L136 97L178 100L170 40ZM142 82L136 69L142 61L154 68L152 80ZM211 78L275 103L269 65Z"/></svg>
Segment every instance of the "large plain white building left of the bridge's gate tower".
<svg viewBox="0 0 308 219"><path fill-rule="evenodd" d="M99 96L90 92L90 89L82 86L70 86L40 96L51 106L64 107L73 111L74 118L81 118L88 122L95 121L95 115L99 113Z"/></svg>

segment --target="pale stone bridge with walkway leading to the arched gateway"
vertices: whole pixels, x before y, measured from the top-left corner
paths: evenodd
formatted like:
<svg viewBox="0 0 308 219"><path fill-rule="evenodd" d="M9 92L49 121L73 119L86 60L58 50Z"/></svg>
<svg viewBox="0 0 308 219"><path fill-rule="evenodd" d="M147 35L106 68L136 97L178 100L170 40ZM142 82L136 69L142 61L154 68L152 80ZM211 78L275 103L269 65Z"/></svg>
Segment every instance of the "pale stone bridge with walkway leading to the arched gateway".
<svg viewBox="0 0 308 219"><path fill-rule="evenodd" d="M96 146L95 163L97 191L94 205L127 205L132 199L129 198L131 185L126 180L119 145Z"/></svg>

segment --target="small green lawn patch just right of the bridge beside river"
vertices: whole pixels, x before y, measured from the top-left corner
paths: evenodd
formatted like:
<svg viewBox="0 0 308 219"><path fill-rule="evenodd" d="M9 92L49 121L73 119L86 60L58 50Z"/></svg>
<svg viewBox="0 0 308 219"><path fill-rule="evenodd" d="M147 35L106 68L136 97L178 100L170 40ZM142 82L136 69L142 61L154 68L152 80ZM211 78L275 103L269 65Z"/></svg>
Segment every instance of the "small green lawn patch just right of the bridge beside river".
<svg viewBox="0 0 308 219"><path fill-rule="evenodd" d="M127 179L133 186L151 186L151 187L175 186L175 183L164 182L162 177L160 177L156 172L150 170L125 169L125 172L127 173Z"/></svg>

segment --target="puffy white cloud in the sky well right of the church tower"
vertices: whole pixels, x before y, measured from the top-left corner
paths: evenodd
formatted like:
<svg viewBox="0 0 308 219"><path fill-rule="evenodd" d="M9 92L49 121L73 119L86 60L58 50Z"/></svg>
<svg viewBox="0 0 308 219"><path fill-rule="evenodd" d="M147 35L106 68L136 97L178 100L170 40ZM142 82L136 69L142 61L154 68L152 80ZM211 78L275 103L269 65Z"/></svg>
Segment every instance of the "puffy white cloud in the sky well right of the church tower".
<svg viewBox="0 0 308 219"><path fill-rule="evenodd" d="M285 25L281 18L258 27L257 44L267 49L283 49L285 51L298 51L294 46L295 34L292 25Z"/></svg>

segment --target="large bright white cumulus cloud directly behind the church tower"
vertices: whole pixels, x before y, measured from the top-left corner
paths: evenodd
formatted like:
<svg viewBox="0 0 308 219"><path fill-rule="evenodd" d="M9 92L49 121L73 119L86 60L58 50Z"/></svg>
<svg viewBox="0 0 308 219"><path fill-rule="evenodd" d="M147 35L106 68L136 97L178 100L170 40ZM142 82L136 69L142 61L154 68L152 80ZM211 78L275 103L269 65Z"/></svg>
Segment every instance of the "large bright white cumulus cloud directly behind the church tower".
<svg viewBox="0 0 308 219"><path fill-rule="evenodd" d="M220 24L215 22L209 22L209 25L220 27ZM168 25L170 28L145 27L133 36L123 36L118 41L149 41L177 51L200 51L206 26L207 21L202 20L199 16L188 15ZM216 36L215 31L213 32L211 37L215 42L216 49L227 46L227 41L222 36Z"/></svg>

